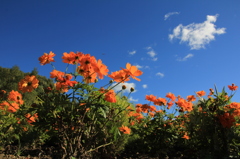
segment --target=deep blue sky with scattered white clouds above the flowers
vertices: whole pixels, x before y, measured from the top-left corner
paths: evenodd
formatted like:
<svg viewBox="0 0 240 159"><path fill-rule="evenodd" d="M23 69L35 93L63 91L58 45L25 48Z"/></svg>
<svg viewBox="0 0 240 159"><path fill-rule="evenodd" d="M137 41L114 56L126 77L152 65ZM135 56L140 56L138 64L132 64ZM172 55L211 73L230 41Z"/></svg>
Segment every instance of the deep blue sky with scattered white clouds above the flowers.
<svg viewBox="0 0 240 159"><path fill-rule="evenodd" d="M144 72L127 85L136 103L147 94L240 86L239 7L239 0L1 0L0 66L49 77L52 67L38 57L50 51L62 71L70 51L102 59L110 72L129 62Z"/></svg>

